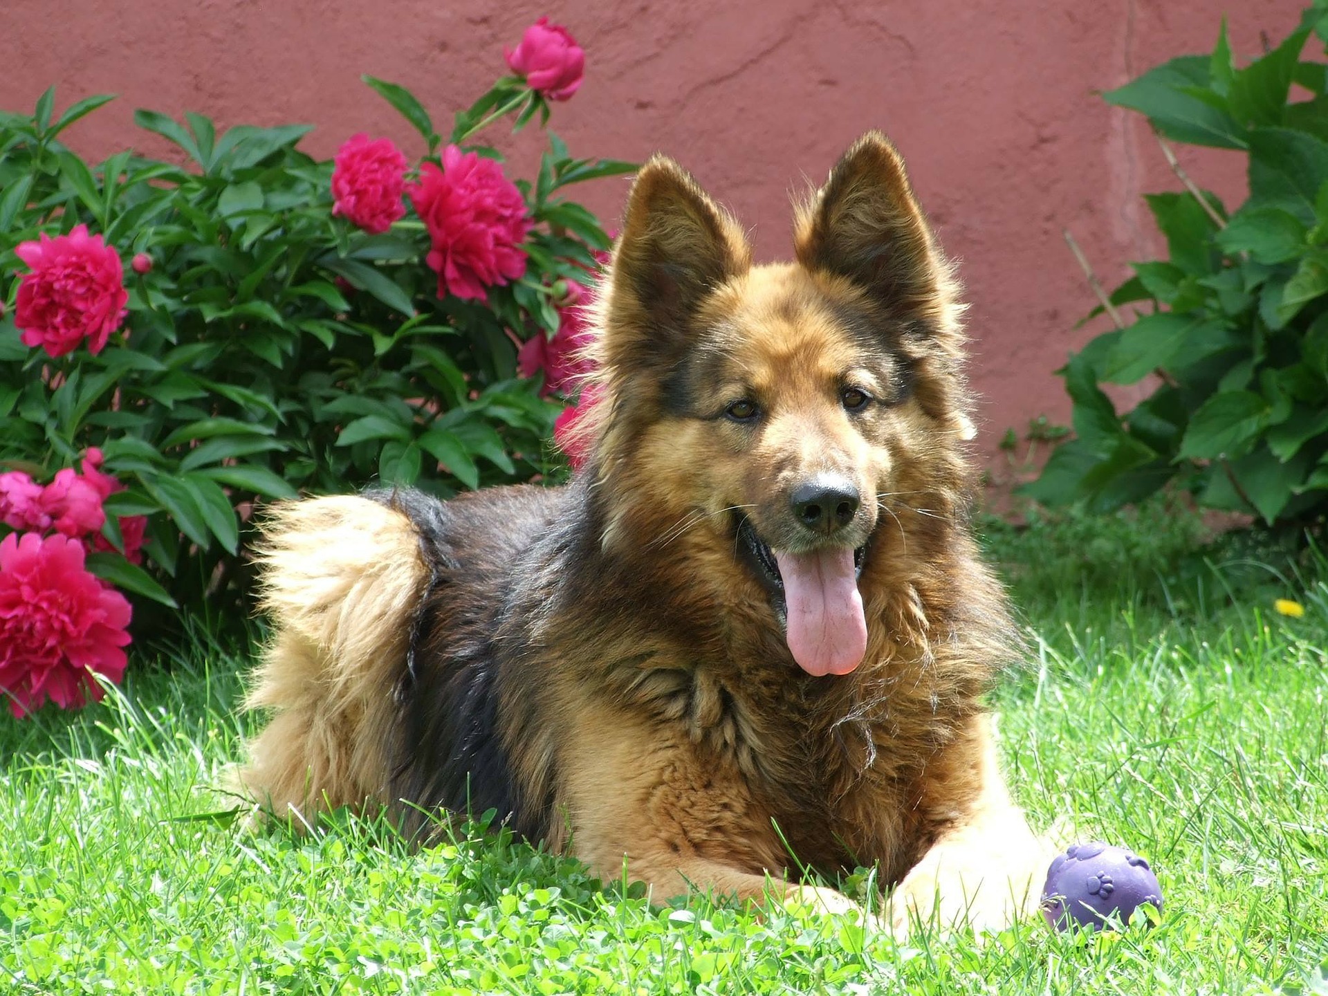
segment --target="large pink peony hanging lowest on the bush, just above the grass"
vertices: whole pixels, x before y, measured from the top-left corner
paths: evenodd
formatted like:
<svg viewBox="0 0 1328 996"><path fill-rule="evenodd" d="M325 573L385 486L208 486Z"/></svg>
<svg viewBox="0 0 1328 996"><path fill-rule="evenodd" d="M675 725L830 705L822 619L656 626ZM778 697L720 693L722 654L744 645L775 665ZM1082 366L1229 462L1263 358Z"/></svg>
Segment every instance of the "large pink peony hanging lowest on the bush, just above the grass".
<svg viewBox="0 0 1328 996"><path fill-rule="evenodd" d="M64 709L85 693L102 697L93 675L125 673L131 610L84 567L84 548L35 533L0 539L0 692L23 717L50 699Z"/></svg>

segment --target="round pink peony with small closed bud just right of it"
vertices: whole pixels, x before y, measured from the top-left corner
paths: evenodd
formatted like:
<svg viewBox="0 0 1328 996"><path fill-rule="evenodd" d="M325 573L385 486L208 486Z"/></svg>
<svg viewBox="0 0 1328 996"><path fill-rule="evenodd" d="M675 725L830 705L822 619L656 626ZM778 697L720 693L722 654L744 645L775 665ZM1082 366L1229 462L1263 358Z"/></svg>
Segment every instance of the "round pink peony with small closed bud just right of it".
<svg viewBox="0 0 1328 996"><path fill-rule="evenodd" d="M42 232L15 254L32 267L19 284L13 317L24 344L54 357L86 339L88 352L100 353L127 311L125 268L116 250L80 224L54 239Z"/></svg>

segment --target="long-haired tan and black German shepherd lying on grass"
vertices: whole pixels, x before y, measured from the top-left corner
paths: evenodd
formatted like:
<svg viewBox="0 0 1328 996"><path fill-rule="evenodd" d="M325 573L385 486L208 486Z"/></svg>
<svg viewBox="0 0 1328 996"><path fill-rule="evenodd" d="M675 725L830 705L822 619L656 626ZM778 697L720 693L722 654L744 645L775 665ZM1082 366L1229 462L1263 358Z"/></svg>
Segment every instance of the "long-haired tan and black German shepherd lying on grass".
<svg viewBox="0 0 1328 996"><path fill-rule="evenodd" d="M1017 653L968 525L951 267L880 134L753 266L672 161L596 304L590 456L562 487L280 506L242 773L276 814L495 809L604 879L996 928L1050 857L983 696Z"/></svg>

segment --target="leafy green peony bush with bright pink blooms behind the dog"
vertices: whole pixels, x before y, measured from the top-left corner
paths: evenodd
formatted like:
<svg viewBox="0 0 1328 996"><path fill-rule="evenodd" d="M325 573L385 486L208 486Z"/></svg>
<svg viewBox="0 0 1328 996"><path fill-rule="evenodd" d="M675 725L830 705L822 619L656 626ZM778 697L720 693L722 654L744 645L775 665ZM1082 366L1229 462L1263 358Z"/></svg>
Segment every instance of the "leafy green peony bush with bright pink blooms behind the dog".
<svg viewBox="0 0 1328 996"><path fill-rule="evenodd" d="M150 110L177 162L90 166L60 135L112 100L0 114L0 693L15 714L98 699L130 619L243 618L262 503L367 483L442 497L559 477L578 312L610 239L567 187L628 173L546 131L534 178L486 129L546 127L584 52L547 19L442 135L355 134Z"/></svg>

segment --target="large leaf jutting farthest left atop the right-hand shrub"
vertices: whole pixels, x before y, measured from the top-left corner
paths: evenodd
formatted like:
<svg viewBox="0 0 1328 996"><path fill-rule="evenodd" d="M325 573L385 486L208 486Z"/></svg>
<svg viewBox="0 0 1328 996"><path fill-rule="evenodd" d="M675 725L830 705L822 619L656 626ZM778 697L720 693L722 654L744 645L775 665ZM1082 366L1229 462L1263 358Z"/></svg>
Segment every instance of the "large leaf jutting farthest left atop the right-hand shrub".
<svg viewBox="0 0 1328 996"><path fill-rule="evenodd" d="M1211 88L1210 68L1207 56L1182 56L1108 90L1102 98L1146 114L1158 131L1178 142L1244 149L1246 129L1230 113L1197 96Z"/></svg>

